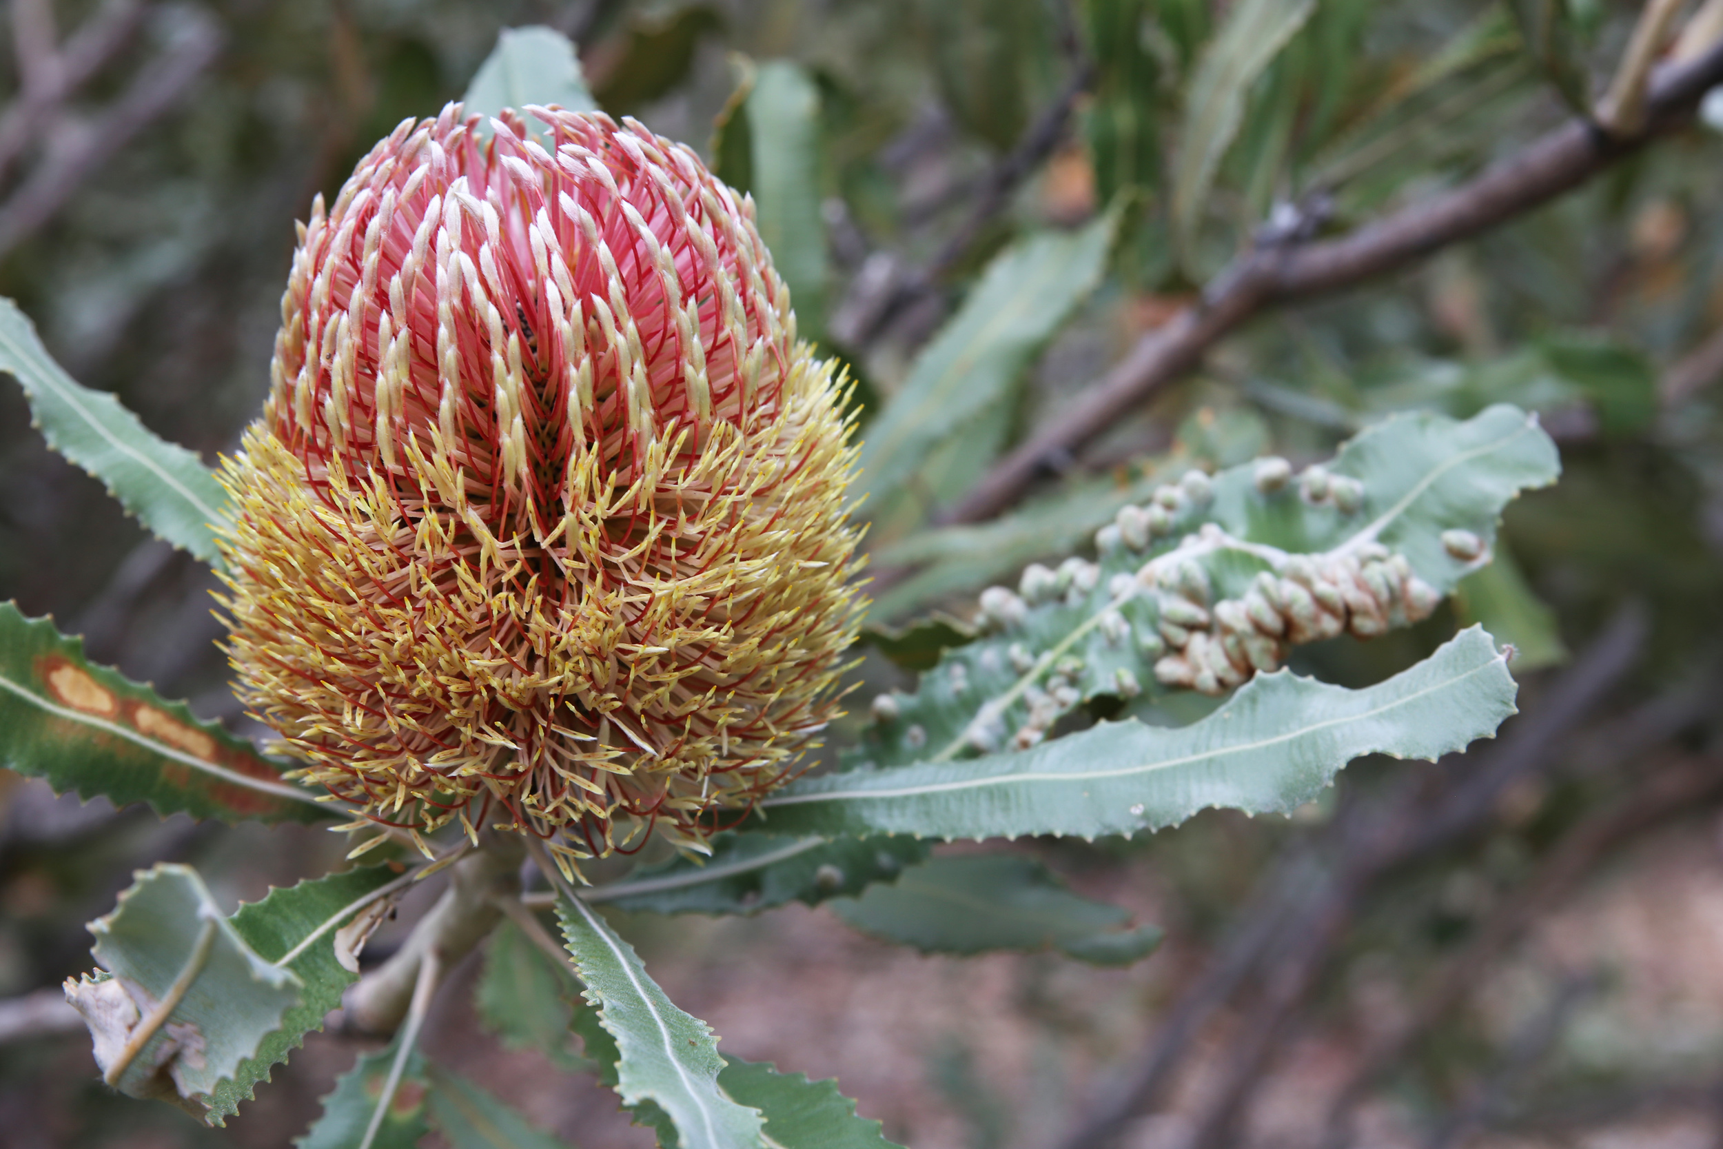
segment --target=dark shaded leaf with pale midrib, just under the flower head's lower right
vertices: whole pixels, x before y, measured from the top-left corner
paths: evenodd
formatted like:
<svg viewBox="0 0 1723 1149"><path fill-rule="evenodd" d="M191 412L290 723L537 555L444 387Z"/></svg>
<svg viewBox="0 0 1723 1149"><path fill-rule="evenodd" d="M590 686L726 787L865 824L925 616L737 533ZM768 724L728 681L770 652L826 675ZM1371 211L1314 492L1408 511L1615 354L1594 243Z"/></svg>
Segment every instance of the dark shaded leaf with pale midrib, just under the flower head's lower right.
<svg viewBox="0 0 1723 1149"><path fill-rule="evenodd" d="M717 834L705 861L675 858L588 892L619 910L646 913L758 913L791 901L810 906L894 880L927 856L908 837L837 839Z"/></svg>

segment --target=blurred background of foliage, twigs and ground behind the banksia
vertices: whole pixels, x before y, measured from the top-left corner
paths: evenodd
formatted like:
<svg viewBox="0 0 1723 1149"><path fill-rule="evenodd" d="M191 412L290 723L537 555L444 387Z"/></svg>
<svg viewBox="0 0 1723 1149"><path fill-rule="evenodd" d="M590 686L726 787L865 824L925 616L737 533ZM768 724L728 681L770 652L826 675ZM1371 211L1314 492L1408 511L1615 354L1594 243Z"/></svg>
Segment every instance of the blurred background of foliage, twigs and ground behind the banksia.
<svg viewBox="0 0 1723 1149"><path fill-rule="evenodd" d="M1723 22L1718 3L1652 7L1678 14L1668 57ZM455 98L500 28L551 24L606 110L755 195L801 334L851 365L863 438L925 388L915 425L932 431L863 508L875 625L955 622L879 634L856 670L868 691L903 680L882 651L925 665L982 586L1085 548L1158 477L1309 462L1389 412L1539 410L1564 477L1509 510L1497 565L1415 632L1301 663L1368 680L1480 620L1520 651L1525 715L1465 760L1356 767L1292 820L1022 844L1168 929L1137 968L910 956L801 908L624 927L725 1049L836 1073L918 1149L1718 1144L1723 226L1706 205L1723 141L1704 115L1411 270L1261 314L1005 515L941 520L1239 252L1349 231L1523 155L1604 91L1640 12L10 0L0 295L83 382L214 460L265 391L291 220L401 117ZM918 358L936 331L1025 300L1044 322L1010 355L958 353L942 374ZM212 587L0 386L0 598L245 729ZM79 808L10 775L0 810L0 996L19 999L88 965L83 923L134 866L195 861L231 901L339 853L312 832ZM81 1030L7 1037L0 1130L21 1149L279 1146L355 1056L314 1040L210 1132L110 1097ZM606 1094L489 1046L470 1013L429 1044L570 1144L648 1144Z"/></svg>

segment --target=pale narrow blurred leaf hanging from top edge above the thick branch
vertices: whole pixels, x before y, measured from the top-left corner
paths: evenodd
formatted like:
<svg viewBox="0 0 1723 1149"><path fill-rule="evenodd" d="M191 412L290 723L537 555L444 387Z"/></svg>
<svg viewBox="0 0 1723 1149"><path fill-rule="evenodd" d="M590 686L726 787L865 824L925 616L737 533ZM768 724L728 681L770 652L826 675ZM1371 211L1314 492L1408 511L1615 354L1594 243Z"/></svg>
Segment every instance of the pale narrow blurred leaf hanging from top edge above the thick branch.
<svg viewBox="0 0 1723 1149"><path fill-rule="evenodd" d="M1173 245L1185 274L1201 279L1197 229L1220 158L1244 122L1244 102L1280 50L1316 10L1316 0L1239 0L1197 64L1185 96L1172 171Z"/></svg>

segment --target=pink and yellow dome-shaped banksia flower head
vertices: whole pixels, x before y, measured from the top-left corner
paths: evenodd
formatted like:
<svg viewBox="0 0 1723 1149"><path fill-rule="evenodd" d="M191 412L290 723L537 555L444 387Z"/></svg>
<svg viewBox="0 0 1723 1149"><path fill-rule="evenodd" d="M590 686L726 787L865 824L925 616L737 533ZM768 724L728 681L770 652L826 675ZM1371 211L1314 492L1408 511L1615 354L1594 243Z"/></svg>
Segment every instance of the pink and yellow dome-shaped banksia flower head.
<svg viewBox="0 0 1723 1149"><path fill-rule="evenodd" d="M229 653L360 822L698 846L836 713L849 424L751 202L531 110L403 122L302 226Z"/></svg>

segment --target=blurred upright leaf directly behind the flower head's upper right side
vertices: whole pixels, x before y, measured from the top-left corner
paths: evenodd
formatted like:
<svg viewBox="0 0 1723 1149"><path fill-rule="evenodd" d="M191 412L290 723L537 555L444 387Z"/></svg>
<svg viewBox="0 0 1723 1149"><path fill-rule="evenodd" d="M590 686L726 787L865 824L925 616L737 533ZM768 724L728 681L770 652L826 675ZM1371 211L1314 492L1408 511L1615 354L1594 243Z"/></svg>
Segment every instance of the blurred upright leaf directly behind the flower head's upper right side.
<svg viewBox="0 0 1723 1149"><path fill-rule="evenodd" d="M789 284L798 336L818 341L825 334L820 90L799 64L768 60L756 69L743 110L760 238Z"/></svg>

